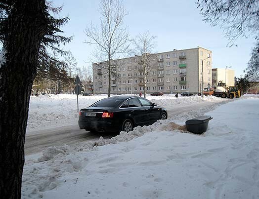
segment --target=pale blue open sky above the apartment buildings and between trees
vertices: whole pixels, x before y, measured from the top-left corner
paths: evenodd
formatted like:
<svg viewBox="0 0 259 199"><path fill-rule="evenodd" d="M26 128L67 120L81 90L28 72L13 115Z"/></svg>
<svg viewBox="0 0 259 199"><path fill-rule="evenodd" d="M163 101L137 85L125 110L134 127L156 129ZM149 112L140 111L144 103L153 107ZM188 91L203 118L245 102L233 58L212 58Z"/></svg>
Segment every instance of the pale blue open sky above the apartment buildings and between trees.
<svg viewBox="0 0 259 199"><path fill-rule="evenodd" d="M237 47L227 47L228 40L224 38L223 30L211 27L202 21L195 0L124 0L129 14L124 24L129 28L133 38L139 33L149 31L156 36L154 52L166 52L173 49L186 49L201 46L212 50L213 68L231 66L235 76L244 75L251 49L254 46L253 38L241 38L236 41ZM67 36L74 36L74 40L64 49L70 50L78 62L78 66L91 67L93 45L84 43L87 39L84 34L86 25L92 21L99 24L99 0L55 0L55 5L62 5L60 17L69 16L70 21L62 27Z"/></svg>

